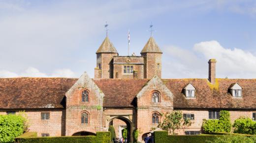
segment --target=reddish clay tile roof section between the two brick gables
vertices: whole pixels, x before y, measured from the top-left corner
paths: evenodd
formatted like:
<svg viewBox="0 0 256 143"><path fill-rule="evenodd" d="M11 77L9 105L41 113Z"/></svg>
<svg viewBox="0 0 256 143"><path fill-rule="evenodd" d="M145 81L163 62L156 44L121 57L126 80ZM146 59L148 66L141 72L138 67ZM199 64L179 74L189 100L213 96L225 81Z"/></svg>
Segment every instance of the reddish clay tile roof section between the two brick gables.
<svg viewBox="0 0 256 143"><path fill-rule="evenodd" d="M148 79L94 79L104 93L104 107L133 107L134 98Z"/></svg>

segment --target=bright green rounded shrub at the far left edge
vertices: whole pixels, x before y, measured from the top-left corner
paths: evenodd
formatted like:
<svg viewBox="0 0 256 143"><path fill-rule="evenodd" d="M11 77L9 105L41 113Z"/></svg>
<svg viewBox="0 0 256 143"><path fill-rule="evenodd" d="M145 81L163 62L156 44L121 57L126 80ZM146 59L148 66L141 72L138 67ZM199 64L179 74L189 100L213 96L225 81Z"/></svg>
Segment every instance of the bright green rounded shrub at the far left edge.
<svg viewBox="0 0 256 143"><path fill-rule="evenodd" d="M10 143L25 130L26 119L21 115L0 115L0 143Z"/></svg>

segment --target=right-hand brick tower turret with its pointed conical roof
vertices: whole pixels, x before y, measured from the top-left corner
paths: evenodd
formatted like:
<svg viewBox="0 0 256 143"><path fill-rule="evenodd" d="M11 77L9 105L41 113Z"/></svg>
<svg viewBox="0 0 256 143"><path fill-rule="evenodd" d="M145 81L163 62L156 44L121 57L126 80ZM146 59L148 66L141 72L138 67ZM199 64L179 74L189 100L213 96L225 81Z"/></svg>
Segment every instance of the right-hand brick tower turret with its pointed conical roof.
<svg viewBox="0 0 256 143"><path fill-rule="evenodd" d="M144 78L152 78L154 75L161 78L162 51L158 47L153 36L149 38L140 54L144 56Z"/></svg>

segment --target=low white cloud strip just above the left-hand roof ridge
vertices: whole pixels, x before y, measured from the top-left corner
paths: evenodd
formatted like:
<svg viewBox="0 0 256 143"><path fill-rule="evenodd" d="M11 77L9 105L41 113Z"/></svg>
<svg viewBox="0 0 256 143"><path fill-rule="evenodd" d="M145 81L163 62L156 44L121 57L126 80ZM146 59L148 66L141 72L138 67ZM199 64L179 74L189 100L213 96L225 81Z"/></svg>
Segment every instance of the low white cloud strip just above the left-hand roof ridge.
<svg viewBox="0 0 256 143"><path fill-rule="evenodd" d="M24 72L18 74L11 71L0 70L0 77L77 77L70 69L58 69L52 74L40 72L38 69L29 67Z"/></svg>

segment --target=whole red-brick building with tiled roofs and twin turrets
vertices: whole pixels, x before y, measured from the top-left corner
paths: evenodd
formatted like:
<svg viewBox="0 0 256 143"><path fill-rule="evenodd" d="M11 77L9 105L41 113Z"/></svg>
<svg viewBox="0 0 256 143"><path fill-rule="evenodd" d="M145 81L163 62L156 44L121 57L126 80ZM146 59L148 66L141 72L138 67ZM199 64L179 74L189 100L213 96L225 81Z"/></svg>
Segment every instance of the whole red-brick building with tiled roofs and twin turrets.
<svg viewBox="0 0 256 143"><path fill-rule="evenodd" d="M216 78L210 59L208 79L161 79L162 51L150 37L141 56L119 56L106 37L96 51L95 78L0 78L0 114L25 111L30 131L39 136L94 135L113 125L127 127L128 140L139 141L158 129L160 114L181 110L192 126L178 134L201 133L203 119L220 110L256 120L256 79Z"/></svg>

